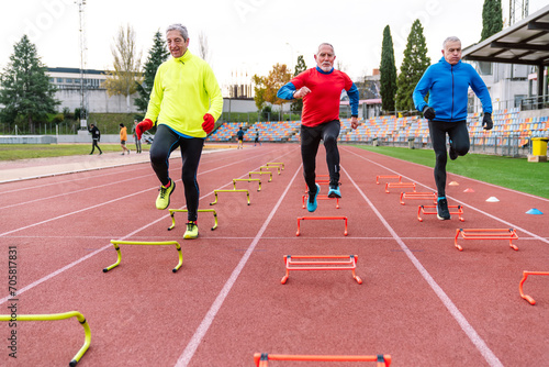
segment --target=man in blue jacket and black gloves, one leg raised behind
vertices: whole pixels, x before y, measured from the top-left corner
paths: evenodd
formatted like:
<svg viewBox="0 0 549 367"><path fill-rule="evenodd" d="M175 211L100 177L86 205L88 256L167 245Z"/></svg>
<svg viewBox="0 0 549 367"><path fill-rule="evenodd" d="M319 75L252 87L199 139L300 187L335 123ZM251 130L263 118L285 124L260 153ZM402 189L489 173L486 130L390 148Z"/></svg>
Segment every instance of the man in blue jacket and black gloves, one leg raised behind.
<svg viewBox="0 0 549 367"><path fill-rule="evenodd" d="M450 141L450 159L469 152L467 101L469 87L480 98L484 116L482 125L491 130L492 101L486 85L469 64L461 63L461 41L448 37L442 43L442 58L425 70L414 90L414 104L429 121L429 134L436 155L435 182L438 190L437 216L449 220L446 200L446 134ZM429 93L428 103L425 96Z"/></svg>

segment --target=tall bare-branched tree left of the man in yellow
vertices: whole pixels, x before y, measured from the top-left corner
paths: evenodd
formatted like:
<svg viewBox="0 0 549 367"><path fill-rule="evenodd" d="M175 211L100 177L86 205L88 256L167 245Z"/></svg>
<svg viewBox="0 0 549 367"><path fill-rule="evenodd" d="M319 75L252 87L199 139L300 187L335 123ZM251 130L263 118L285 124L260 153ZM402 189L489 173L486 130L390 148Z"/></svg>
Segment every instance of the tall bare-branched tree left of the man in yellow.
<svg viewBox="0 0 549 367"><path fill-rule="evenodd" d="M137 85L143 81L141 70L141 52L136 51L135 31L128 24L119 29L111 46L113 70L107 73L104 87L109 96L122 94L126 98L126 109L130 112L130 96L135 93Z"/></svg>

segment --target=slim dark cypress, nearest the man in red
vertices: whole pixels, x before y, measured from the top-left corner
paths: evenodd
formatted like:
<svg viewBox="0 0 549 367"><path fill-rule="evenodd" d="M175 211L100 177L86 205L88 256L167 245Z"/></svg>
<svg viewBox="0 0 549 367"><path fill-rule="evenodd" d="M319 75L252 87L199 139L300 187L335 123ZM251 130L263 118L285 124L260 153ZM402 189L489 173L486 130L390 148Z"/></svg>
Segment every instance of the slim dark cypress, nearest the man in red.
<svg viewBox="0 0 549 367"><path fill-rule="evenodd" d="M383 45L381 46L380 65L380 93L383 111L394 111L394 97L396 94L396 65L394 63L393 37L391 29L383 30Z"/></svg>

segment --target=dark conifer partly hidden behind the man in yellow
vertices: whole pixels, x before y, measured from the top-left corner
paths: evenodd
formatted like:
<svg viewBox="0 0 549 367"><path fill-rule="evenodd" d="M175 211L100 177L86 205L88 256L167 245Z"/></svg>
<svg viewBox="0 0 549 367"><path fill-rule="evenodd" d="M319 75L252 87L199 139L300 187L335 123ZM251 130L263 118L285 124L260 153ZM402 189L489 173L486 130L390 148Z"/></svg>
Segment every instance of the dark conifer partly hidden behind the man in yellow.
<svg viewBox="0 0 549 367"><path fill-rule="evenodd" d="M168 59L169 56L168 48L166 46L166 41L163 38L160 31L156 32L153 38L153 47L148 52L147 62L144 65L144 79L142 84L137 85L137 92L139 97L135 99L135 105L142 112L147 111L148 100L150 98L150 91L153 90L153 85L155 84L156 70Z"/></svg>

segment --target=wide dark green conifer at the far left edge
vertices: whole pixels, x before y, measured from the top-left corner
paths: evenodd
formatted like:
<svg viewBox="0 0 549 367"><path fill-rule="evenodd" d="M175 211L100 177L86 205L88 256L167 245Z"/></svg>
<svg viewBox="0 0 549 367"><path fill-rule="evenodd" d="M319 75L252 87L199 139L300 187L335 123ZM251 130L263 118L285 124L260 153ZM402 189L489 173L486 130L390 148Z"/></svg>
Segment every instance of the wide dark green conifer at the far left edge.
<svg viewBox="0 0 549 367"><path fill-rule="evenodd" d="M22 120L34 133L35 122L45 122L48 113L55 113L60 102L54 97L55 86L49 84L46 66L42 64L36 46L23 35L13 47L13 55L0 75L0 112L2 121Z"/></svg>

